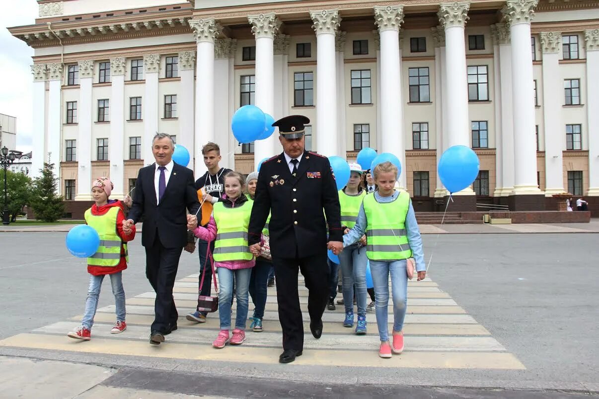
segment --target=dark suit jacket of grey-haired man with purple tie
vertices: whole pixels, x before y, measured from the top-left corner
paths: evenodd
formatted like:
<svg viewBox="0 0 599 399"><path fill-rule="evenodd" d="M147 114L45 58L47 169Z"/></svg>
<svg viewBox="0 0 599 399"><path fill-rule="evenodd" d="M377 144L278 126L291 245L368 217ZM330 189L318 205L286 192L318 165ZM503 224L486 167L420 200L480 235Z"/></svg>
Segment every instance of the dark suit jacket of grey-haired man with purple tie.
<svg viewBox="0 0 599 399"><path fill-rule="evenodd" d="M190 214L195 214L199 208L198 193L193 185L193 172L175 163L162 200L156 205L155 171L155 163L140 169L128 217L134 223L137 223L142 215L144 217L141 245L152 245L158 234L165 248L183 247L187 244L186 209Z"/></svg>

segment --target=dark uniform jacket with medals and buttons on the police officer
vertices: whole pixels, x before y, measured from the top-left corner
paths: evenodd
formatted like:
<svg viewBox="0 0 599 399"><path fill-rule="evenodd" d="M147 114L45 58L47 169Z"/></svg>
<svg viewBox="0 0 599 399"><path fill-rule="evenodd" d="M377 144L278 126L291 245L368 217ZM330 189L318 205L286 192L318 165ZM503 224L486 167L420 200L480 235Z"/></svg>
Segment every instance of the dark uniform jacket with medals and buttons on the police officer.
<svg viewBox="0 0 599 399"><path fill-rule="evenodd" d="M329 160L304 151L297 176L289 172L283 153L262 163L248 229L250 245L260 242L268 212L274 257L303 258L326 252L326 221L329 240L342 241L341 207Z"/></svg>

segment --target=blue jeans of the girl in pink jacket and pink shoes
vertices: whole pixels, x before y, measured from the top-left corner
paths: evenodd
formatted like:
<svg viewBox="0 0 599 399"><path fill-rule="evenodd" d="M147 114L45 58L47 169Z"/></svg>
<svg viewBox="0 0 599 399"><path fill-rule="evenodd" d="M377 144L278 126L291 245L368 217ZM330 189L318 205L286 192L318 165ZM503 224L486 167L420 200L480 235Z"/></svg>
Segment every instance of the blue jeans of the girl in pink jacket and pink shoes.
<svg viewBox="0 0 599 399"><path fill-rule="evenodd" d="M237 315L235 328L246 329L247 319L247 290L250 285L252 269L229 270L218 267L219 274L219 318L220 330L231 329L231 302L233 300L233 279L235 279L235 299L237 299Z"/></svg>

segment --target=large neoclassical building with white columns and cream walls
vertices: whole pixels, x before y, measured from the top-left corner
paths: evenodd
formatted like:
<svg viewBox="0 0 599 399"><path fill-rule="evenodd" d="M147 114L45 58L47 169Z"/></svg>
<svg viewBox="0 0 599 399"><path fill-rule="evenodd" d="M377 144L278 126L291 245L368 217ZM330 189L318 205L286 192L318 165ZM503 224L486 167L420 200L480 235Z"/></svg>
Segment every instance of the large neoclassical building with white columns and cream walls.
<svg viewBox="0 0 599 399"><path fill-rule="evenodd" d="M599 196L597 0L38 0L35 25L10 32L35 49L32 171L58 165L66 200L113 195L153 162L156 132L176 136L203 173L248 173L280 153L277 135L239 145L231 117L255 104L310 118L308 149L400 157L420 210L447 195L437 162L472 147L479 177L465 208L553 206Z"/></svg>

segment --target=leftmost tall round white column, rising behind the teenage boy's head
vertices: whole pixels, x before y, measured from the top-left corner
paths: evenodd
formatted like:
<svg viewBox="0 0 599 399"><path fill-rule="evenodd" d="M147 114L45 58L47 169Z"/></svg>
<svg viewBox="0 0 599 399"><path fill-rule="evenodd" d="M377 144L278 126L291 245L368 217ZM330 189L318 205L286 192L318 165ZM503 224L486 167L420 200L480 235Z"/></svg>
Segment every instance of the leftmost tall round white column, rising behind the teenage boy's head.
<svg viewBox="0 0 599 399"><path fill-rule="evenodd" d="M196 176L201 176L207 170L201 157L202 147L214 141L214 99L206 93L214 92L214 40L222 26L212 18L189 20L189 26L197 43L193 170Z"/></svg>

